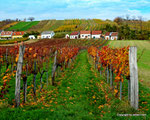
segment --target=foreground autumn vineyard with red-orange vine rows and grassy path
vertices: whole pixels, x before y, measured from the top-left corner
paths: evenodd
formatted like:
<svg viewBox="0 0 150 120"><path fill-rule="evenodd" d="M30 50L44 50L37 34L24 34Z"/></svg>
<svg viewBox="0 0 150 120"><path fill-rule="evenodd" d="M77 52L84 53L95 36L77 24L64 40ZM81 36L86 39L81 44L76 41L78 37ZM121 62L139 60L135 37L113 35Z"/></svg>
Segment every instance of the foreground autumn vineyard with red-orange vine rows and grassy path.
<svg viewBox="0 0 150 120"><path fill-rule="evenodd" d="M80 23L64 21L66 26ZM130 46L107 44L45 39L1 46L0 118L8 119L9 114L11 119L122 119L118 113L149 118L149 89L142 84L138 110L130 106Z"/></svg>

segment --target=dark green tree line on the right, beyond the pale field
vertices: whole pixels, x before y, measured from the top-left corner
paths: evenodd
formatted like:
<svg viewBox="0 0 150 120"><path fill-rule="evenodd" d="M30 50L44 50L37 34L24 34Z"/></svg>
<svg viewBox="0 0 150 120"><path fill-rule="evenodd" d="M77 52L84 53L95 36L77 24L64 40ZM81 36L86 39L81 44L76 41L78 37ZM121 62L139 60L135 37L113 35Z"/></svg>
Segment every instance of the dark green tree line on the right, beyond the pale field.
<svg viewBox="0 0 150 120"><path fill-rule="evenodd" d="M144 21L142 16L137 18L129 15L126 18L116 17L114 22L117 26L106 26L108 31L119 32L119 39L124 40L149 40L150 39L150 21Z"/></svg>

